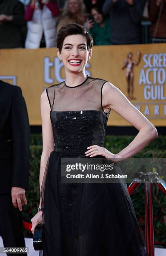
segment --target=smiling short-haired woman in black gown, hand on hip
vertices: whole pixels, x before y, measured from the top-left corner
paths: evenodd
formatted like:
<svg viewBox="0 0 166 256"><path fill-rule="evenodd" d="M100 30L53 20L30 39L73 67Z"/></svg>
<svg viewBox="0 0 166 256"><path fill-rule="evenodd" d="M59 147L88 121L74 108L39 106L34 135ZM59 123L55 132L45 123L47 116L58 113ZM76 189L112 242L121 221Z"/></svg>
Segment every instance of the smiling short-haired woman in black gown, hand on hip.
<svg viewBox="0 0 166 256"><path fill-rule="evenodd" d="M61 183L61 158L103 157L116 163L157 137L156 128L118 88L85 74L92 45L83 26L68 24L58 33L66 79L41 95L43 210L33 217L32 232L44 223L44 256L147 256L126 184ZM103 148L111 109L139 131L118 154Z"/></svg>

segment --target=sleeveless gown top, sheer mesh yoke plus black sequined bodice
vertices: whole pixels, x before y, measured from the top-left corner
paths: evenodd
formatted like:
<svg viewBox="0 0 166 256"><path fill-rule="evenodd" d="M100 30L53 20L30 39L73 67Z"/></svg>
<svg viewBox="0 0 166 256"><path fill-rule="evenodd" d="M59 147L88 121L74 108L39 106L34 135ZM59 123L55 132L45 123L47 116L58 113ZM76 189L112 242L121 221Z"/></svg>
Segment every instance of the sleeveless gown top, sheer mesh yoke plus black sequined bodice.
<svg viewBox="0 0 166 256"><path fill-rule="evenodd" d="M91 145L103 146L109 113L102 106L103 79L87 79L75 87L65 82L47 89L54 150L81 155Z"/></svg>

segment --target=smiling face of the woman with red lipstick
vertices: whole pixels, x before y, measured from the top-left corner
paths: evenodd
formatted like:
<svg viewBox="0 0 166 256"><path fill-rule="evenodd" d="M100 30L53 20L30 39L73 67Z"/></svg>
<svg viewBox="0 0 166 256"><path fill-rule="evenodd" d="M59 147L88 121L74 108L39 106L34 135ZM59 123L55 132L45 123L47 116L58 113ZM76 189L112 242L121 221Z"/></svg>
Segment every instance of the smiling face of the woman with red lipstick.
<svg viewBox="0 0 166 256"><path fill-rule="evenodd" d="M79 73L85 71L86 63L91 58L91 50L87 49L85 36L71 35L65 37L61 53L57 49L57 55L63 61L65 72Z"/></svg>

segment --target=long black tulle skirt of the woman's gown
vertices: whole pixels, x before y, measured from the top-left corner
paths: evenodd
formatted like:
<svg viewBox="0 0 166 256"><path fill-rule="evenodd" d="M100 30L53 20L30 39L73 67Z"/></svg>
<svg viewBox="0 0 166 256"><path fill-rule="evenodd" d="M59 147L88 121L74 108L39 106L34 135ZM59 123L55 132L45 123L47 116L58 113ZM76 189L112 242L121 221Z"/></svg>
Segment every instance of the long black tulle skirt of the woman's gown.
<svg viewBox="0 0 166 256"><path fill-rule="evenodd" d="M41 187L43 256L148 256L126 184L63 184L61 157L51 152Z"/></svg>

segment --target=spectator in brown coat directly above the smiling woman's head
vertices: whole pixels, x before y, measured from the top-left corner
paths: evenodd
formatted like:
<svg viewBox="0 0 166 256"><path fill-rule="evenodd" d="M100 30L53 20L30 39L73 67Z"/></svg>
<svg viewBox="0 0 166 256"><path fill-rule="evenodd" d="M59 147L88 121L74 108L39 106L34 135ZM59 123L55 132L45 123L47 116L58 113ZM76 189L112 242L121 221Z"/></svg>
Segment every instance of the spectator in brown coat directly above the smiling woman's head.
<svg viewBox="0 0 166 256"><path fill-rule="evenodd" d="M59 18L57 33L67 23L78 23L84 25L86 22L86 7L83 0L66 0Z"/></svg>

